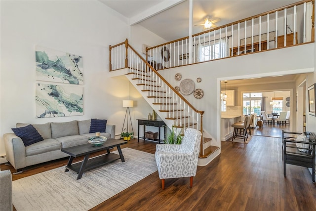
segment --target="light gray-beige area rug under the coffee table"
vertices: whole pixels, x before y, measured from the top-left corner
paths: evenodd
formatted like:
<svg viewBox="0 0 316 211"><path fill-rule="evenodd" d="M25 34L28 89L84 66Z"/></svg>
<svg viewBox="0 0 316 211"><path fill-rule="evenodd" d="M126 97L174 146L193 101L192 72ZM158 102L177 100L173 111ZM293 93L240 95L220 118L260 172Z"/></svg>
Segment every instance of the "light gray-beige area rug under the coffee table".
<svg viewBox="0 0 316 211"><path fill-rule="evenodd" d="M13 205L17 211L86 211L157 171L154 154L130 148L122 153L125 162L88 170L79 180L65 167L15 180Z"/></svg>

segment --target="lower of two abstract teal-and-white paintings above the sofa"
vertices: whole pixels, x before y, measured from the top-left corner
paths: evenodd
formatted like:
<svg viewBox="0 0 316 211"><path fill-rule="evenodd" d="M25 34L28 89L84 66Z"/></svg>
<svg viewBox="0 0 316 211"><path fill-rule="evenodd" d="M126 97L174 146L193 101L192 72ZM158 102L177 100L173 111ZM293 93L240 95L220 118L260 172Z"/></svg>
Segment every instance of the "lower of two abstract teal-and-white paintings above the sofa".
<svg viewBox="0 0 316 211"><path fill-rule="evenodd" d="M36 117L83 115L83 87L36 84Z"/></svg>

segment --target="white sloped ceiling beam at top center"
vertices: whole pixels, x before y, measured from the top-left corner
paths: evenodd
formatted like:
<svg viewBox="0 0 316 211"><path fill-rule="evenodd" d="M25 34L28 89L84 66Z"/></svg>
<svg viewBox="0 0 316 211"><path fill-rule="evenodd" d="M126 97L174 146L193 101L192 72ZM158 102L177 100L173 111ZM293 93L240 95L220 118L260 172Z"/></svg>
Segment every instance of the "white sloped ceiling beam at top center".
<svg viewBox="0 0 316 211"><path fill-rule="evenodd" d="M150 18L160 12L163 12L164 10L167 10L185 0L164 0L161 1L161 3L156 4L155 6L148 8L139 14L131 17L129 19L129 25L133 26L135 24L138 24L139 22L142 22L143 20L146 20L147 18Z"/></svg>

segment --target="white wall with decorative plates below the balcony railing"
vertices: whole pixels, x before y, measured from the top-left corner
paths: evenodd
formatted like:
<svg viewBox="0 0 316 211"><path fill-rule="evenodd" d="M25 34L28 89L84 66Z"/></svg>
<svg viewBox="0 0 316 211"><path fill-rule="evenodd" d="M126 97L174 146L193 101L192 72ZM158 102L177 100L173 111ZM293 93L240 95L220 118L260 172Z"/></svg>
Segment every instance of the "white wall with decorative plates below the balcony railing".
<svg viewBox="0 0 316 211"><path fill-rule="evenodd" d="M185 95L185 97L198 110L205 111L203 126L218 141L220 140L220 118L218 117L221 113L220 80L314 71L314 56L314 43L312 43L161 70L159 73L172 86L179 86L183 79L194 81L198 77L202 79L201 83L196 83L195 88L201 88L204 91L203 98L196 99L193 94ZM174 80L176 73L182 74L182 80L179 82Z"/></svg>

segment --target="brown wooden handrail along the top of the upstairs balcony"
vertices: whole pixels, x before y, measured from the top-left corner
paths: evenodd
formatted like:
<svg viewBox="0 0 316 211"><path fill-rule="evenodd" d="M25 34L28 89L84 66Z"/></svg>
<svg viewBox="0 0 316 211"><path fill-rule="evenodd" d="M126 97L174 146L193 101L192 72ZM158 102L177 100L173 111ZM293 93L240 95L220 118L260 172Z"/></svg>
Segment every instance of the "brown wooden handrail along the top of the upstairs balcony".
<svg viewBox="0 0 316 211"><path fill-rule="evenodd" d="M223 25L223 26L219 26L219 27L216 27L216 28L213 28L213 29L209 29L209 30L206 30L206 31L203 31L203 32L199 32L199 33L197 33L197 34L192 35L192 37L196 37L196 36L198 36L198 35L206 34L206 33L208 33L208 32L212 32L212 31L215 31L215 30L218 30L218 29L222 29L222 28L225 28L225 27L227 27L227 26L231 26L231 25L234 25L234 24L237 24L237 23L241 23L241 22L244 22L244 21L251 20L252 18L258 18L258 17L260 17L260 16L264 16L264 15L267 15L267 14L270 14L270 13L274 13L274 12L276 12L276 11L280 11L280 10L283 10L283 9L286 9L286 8L290 8L290 7L293 7L293 6L295 6L295 5L300 5L300 4L303 4L303 3L305 3L305 2L310 2L310 1L314 2L314 0L301 0L301 1L298 1L298 2L296 2L296 3L292 3L292 4L289 4L289 5L286 5L286 6L279 7L279 8L277 8L277 9L270 10L270 11L268 11L268 12L263 12L263 13L260 13L260 14L258 14L258 15L254 15L254 16L251 16L251 17L248 17L248 18L244 18L244 19L242 19L242 20L238 20L238 21L235 21L235 22L232 22L232 23ZM314 12L314 10L313 10L313 12ZM314 17L314 15L313 15L313 17ZM186 39L188 39L188 38L189 38L189 36L184 37L184 38L180 38L180 39L177 39L177 40L174 40L174 41L165 42L165 43L163 43L163 44L159 44L159 45L156 45L156 46L153 46L153 47L148 47L148 48L146 48L146 52L147 52L148 50L151 50L151 49L154 49L154 48L157 48L157 47L166 45L166 44L170 44L170 43L173 43L173 42L178 42L178 41L181 41L181 40L186 40ZM147 55L147 53L146 53L146 55Z"/></svg>

